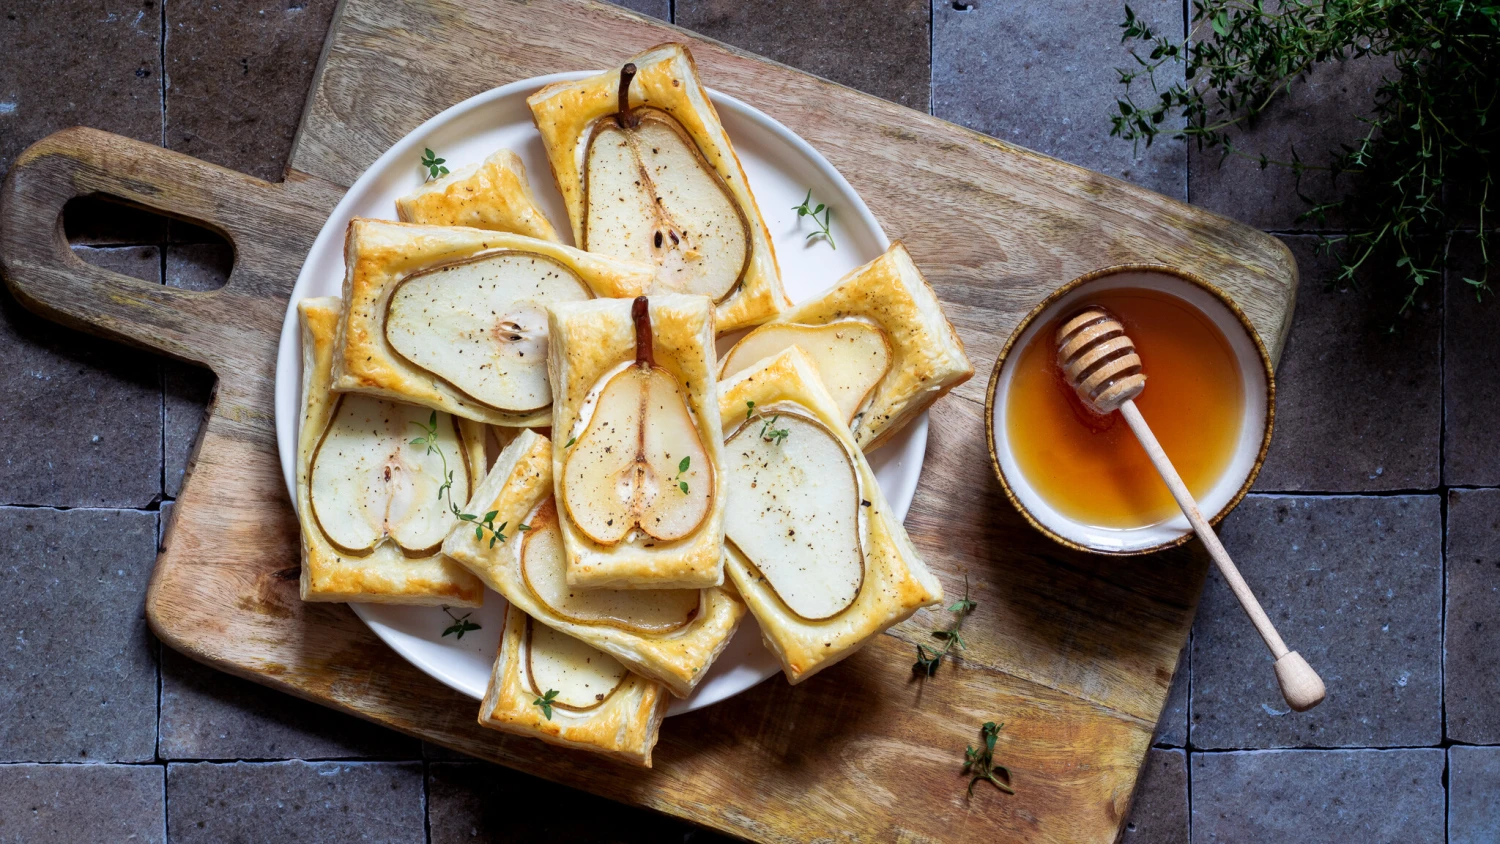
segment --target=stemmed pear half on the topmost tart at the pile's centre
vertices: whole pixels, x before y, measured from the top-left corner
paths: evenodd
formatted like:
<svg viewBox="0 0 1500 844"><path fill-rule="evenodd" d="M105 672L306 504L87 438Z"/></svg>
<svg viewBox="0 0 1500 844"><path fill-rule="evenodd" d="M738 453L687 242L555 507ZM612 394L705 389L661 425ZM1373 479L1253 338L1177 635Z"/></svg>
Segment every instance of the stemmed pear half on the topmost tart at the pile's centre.
<svg viewBox="0 0 1500 844"><path fill-rule="evenodd" d="M590 540L636 526L660 541L693 534L714 501L714 468L676 378L656 366L646 297L632 307L636 361L609 376L562 463L562 504Z"/></svg>

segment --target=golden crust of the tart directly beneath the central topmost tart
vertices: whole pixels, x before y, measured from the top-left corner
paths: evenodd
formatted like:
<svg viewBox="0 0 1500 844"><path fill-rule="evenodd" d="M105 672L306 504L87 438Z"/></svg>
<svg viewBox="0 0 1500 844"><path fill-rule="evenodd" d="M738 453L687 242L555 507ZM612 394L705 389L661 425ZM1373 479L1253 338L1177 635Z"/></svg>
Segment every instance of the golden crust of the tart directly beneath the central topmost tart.
<svg viewBox="0 0 1500 844"><path fill-rule="evenodd" d="M464 564L490 589L536 621L579 639L624 663L627 669L664 684L687 697L729 645L746 606L726 586L702 591L693 621L672 633L646 634L602 624L578 624L558 616L537 600L520 573L522 534L518 526L552 496L552 442L524 430L506 447L468 502L470 513L496 511L495 523L508 525L507 541L489 547L474 531L454 528L442 553Z"/></svg>

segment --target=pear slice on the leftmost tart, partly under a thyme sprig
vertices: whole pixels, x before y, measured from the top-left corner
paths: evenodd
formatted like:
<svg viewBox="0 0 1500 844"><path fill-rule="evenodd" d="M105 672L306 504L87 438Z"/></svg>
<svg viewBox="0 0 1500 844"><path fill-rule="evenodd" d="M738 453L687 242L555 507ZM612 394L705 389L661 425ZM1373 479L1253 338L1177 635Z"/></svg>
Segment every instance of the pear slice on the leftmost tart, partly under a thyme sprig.
<svg viewBox="0 0 1500 844"><path fill-rule="evenodd" d="M438 553L453 528L438 496L442 456L411 444L416 427L428 427L434 415L435 445L458 456L447 465L452 493L464 499L470 477L458 420L357 393L339 396L312 456L309 501L322 534L342 553L363 556L387 537L406 556Z"/></svg>

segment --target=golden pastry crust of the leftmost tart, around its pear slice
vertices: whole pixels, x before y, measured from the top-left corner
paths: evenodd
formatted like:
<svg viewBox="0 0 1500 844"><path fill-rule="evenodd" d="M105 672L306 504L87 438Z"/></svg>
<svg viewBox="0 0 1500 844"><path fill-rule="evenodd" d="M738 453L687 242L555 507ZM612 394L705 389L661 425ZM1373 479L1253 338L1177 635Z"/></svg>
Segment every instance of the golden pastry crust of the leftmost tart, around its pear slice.
<svg viewBox="0 0 1500 844"><path fill-rule="evenodd" d="M478 577L441 553L408 558L393 543L381 543L366 556L338 552L312 516L312 457L322 432L333 420L338 394L328 391L334 331L339 321L338 297L304 298L297 303L302 316L302 432L297 439L297 520L302 525L302 600L368 601L376 604L447 604L477 607L484 600ZM440 424L446 417L440 417ZM465 451L454 456L466 462L472 484L484 474L484 427L459 420ZM465 498L468 490L453 490Z"/></svg>

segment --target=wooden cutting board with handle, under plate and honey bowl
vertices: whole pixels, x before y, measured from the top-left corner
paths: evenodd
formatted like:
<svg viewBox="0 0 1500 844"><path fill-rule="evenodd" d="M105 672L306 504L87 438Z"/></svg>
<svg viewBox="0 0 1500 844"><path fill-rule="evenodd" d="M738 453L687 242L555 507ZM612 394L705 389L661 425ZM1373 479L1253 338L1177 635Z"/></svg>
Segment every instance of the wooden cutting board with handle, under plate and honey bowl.
<svg viewBox="0 0 1500 844"><path fill-rule="evenodd" d="M297 523L273 427L286 297L333 204L420 121L514 79L604 67L668 39L706 82L764 109L849 178L908 243L958 325L974 381L932 412L908 528L951 595L980 607L969 649L916 681L916 618L807 684L780 679L662 730L640 772L480 729L476 703L390 652L344 606L297 598ZM87 265L57 223L108 193L224 232L224 289L189 292ZM1068 552L1000 495L984 442L994 355L1053 286L1166 262L1227 289L1276 355L1296 265L1274 238L588 0L345 0L282 184L116 135L66 130L27 150L0 193L0 270L54 319L198 361L219 378L147 615L196 660L501 765L760 841L1112 841L1186 640L1204 559ZM1016 796L964 796L964 747L1004 721ZM496 799L504 799L498 796Z"/></svg>

